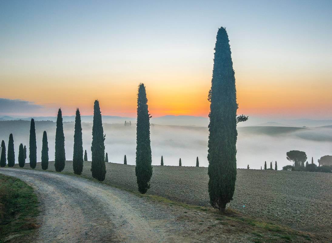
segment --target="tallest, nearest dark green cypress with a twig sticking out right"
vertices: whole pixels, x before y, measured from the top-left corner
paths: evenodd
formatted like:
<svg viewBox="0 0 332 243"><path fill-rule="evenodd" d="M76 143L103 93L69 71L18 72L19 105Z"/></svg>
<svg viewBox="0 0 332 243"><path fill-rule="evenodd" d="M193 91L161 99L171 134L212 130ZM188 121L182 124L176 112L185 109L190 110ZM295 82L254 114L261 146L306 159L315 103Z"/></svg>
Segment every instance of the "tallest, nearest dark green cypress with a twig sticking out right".
<svg viewBox="0 0 332 243"><path fill-rule="evenodd" d="M224 211L236 180L236 89L227 32L220 28L214 48L208 125L208 192L212 207Z"/></svg>

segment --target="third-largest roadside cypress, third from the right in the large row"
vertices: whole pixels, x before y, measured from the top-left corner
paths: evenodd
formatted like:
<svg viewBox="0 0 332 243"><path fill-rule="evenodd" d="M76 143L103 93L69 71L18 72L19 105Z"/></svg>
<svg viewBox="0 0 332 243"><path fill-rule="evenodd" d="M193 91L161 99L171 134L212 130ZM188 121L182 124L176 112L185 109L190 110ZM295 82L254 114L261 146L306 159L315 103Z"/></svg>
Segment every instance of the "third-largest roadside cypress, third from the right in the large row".
<svg viewBox="0 0 332 243"><path fill-rule="evenodd" d="M100 112L99 101L95 100L93 107L92 144L91 144L91 172L92 177L98 181L105 180L105 136Z"/></svg>

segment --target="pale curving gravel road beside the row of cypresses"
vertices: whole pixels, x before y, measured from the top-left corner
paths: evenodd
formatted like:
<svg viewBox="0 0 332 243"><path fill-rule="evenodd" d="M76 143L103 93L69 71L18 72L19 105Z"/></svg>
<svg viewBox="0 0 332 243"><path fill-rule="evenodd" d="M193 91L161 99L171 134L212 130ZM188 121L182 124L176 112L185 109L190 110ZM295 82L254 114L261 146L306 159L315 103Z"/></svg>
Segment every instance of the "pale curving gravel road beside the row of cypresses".
<svg viewBox="0 0 332 243"><path fill-rule="evenodd" d="M35 189L41 227L33 242L251 242L249 233L210 227L215 219L204 212L183 211L85 178L15 168L0 173Z"/></svg>

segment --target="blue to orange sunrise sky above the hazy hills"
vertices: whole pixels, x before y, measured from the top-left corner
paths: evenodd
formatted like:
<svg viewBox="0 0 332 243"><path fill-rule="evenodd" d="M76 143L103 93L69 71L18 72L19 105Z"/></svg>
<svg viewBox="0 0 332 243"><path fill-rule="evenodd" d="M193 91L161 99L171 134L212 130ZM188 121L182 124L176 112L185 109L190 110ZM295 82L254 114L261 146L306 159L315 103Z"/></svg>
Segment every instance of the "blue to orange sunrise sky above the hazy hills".
<svg viewBox="0 0 332 243"><path fill-rule="evenodd" d="M332 1L0 0L0 116L207 117L218 28L238 114L332 119Z"/></svg>

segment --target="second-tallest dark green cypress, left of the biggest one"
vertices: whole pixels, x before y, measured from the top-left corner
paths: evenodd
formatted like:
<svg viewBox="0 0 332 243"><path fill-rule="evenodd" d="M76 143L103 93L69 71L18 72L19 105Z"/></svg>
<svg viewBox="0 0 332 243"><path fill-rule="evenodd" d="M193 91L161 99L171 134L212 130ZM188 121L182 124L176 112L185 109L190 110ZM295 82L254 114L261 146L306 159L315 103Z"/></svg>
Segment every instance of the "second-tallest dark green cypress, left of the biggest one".
<svg viewBox="0 0 332 243"><path fill-rule="evenodd" d="M150 144L150 114L144 84L140 83L137 94L136 123L136 166L138 191L142 194L150 188L152 176L152 157Z"/></svg>

